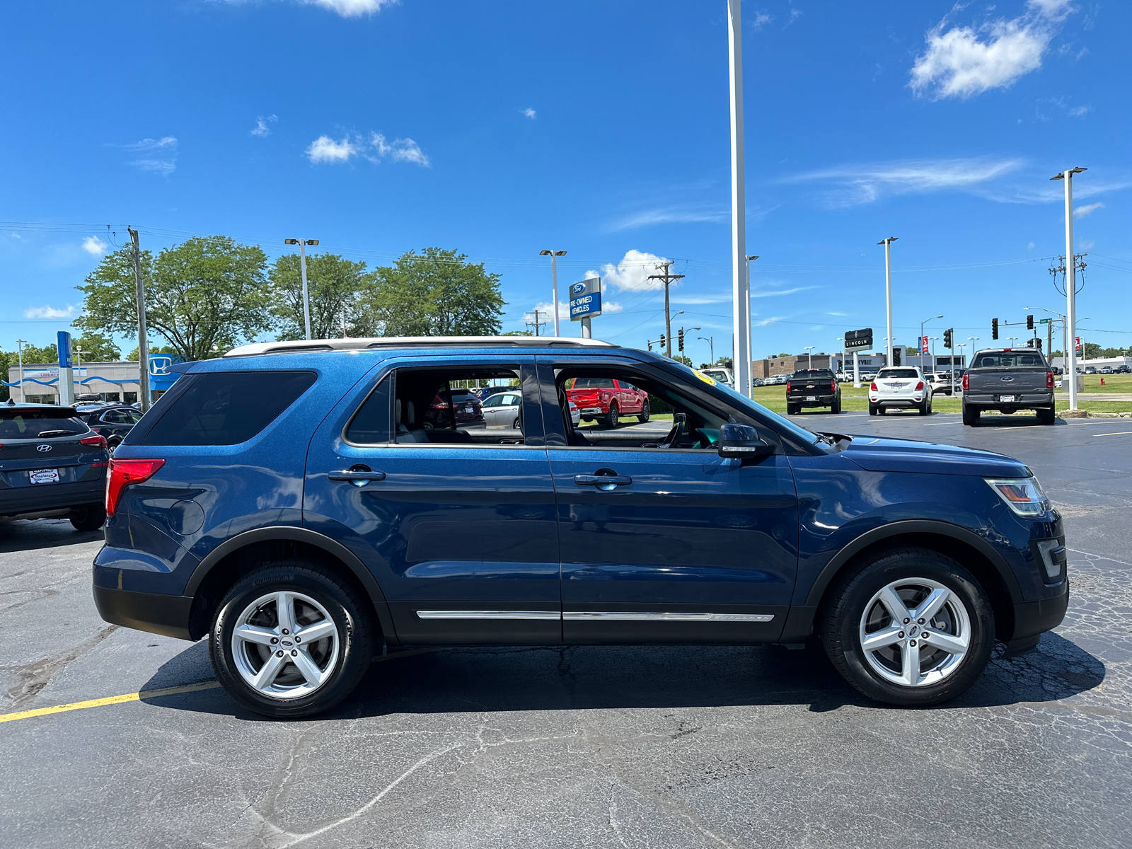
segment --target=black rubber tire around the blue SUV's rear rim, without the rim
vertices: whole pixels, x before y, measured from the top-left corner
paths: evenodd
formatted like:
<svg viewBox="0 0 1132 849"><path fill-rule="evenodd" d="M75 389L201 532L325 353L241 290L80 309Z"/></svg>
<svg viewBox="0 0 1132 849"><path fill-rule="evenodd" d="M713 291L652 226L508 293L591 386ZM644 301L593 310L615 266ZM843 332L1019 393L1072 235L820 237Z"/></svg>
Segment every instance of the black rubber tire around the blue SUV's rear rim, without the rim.
<svg viewBox="0 0 1132 849"><path fill-rule="evenodd" d="M275 698L252 687L241 675L232 646L237 619L248 606L282 591L314 599L329 614L337 632L331 677L295 698ZM208 657L221 685L243 707L277 719L310 717L333 707L358 686L374 657L375 638L369 604L348 582L317 563L281 560L257 567L225 593L208 633Z"/></svg>

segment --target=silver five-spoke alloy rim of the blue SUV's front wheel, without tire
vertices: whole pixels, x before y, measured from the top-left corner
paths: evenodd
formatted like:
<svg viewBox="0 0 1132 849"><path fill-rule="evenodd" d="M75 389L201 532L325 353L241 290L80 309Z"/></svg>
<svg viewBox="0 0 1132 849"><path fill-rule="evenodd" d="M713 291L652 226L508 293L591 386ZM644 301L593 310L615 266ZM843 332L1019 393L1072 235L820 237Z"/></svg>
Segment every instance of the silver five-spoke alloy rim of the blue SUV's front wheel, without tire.
<svg viewBox="0 0 1132 849"><path fill-rule="evenodd" d="M860 648L874 672L892 684L927 687L954 672L971 642L962 600L926 577L893 581L865 604Z"/></svg>

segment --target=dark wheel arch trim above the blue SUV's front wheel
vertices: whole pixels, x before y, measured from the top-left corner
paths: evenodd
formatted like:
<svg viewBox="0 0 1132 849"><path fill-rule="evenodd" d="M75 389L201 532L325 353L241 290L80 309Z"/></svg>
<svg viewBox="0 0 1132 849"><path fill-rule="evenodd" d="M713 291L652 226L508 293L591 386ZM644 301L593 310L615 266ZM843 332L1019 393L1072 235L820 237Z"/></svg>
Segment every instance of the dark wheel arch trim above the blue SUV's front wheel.
<svg viewBox="0 0 1132 849"><path fill-rule="evenodd" d="M893 522L863 533L841 548L818 574L806 598L806 607L820 619L830 588L838 576L860 558L897 546L931 548L951 557L983 585L995 615L1000 640L1014 631L1014 604L1022 601L1018 578L1002 555L983 538L959 525L929 520Z"/></svg>

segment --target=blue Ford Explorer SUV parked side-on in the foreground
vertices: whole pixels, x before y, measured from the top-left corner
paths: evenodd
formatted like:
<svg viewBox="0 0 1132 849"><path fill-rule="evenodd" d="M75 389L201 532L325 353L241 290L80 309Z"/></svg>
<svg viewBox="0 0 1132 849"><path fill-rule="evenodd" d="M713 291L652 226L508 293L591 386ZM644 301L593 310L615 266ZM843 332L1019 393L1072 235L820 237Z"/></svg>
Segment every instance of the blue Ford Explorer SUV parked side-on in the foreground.
<svg viewBox="0 0 1132 849"><path fill-rule="evenodd" d="M111 458L94 597L207 635L258 713L326 710L385 646L811 637L925 705L1065 614L1062 518L1019 461L814 434L643 351L332 340L174 368ZM565 386L595 377L671 418L573 427ZM423 427L483 385L521 391L517 428Z"/></svg>

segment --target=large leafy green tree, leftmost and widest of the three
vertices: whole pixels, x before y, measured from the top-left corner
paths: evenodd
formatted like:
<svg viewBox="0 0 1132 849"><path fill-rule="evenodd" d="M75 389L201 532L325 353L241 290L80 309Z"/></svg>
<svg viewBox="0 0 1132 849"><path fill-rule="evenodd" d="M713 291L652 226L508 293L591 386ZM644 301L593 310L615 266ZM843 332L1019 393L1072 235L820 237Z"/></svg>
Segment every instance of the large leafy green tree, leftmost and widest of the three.
<svg viewBox="0 0 1132 849"><path fill-rule="evenodd" d="M254 340L272 324L266 267L259 246L238 245L226 235L189 239L156 259L143 251L146 324L186 360L204 360ZM76 326L137 335L129 246L104 257L78 290L86 298Z"/></svg>

